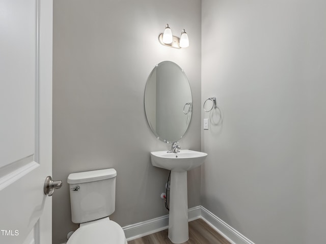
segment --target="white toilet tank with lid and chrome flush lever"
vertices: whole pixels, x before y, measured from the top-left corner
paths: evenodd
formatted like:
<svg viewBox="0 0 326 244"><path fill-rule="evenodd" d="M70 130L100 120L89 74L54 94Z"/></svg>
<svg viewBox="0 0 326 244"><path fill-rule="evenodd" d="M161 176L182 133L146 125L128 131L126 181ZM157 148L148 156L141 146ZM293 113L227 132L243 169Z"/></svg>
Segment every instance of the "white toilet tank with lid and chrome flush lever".
<svg viewBox="0 0 326 244"><path fill-rule="evenodd" d="M85 223L111 215L116 202L115 169L100 169L68 176L71 219Z"/></svg>

